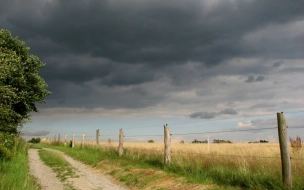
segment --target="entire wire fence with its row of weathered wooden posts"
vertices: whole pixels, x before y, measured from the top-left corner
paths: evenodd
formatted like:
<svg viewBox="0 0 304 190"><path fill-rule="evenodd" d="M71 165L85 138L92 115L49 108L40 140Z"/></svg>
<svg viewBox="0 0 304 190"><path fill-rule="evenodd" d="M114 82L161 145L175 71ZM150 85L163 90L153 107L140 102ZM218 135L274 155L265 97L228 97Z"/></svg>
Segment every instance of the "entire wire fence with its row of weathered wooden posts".
<svg viewBox="0 0 304 190"><path fill-rule="evenodd" d="M298 111L298 112L292 112L292 113L300 113L304 111ZM289 112L291 113L291 112ZM265 114L264 114L265 115ZM267 114L268 115L268 114ZM269 114L270 115L270 114ZM272 115L272 114L271 114ZM250 116L253 117L253 116ZM180 123L185 124L185 123ZM123 139L124 138L135 138L135 137L160 137L164 136L164 162L166 165L169 165L171 163L171 153L172 154L196 154L196 155L202 155L202 156L231 156L231 157L248 157L248 158L262 158L262 159L278 159L280 157L267 157L267 156L242 156L242 155L227 155L227 154L202 154L202 153L194 153L194 152L183 152L183 151L171 151L171 136L183 136L183 135L201 135L201 134L217 134L217 133L230 133L230 132L247 132L247 131L262 131L262 130L270 130L270 129L278 129L278 135L279 135L279 144L280 144L280 152L281 152L281 163L282 163L282 176L283 176L283 184L291 188L291 160L304 160L302 158L291 158L289 155L289 145L287 138L287 124L285 117L283 113L277 113L277 124L278 127L265 127L265 128L251 128L251 129L236 129L236 130L224 130L224 131L213 131L213 132L202 132L202 133L181 133L181 134L171 134L170 129L168 128L167 124L164 125L164 135L130 135L130 136L124 136L124 131L122 129L119 130L119 146L118 146L118 152L119 156L122 156L124 154L124 146L123 146ZM135 127L134 127L135 128ZM140 127L144 128L144 127ZM295 127L289 127L289 129L299 129L304 128L303 126L295 126ZM133 129L133 128L127 128L127 129ZM105 130L105 129L102 129ZM107 135L99 135L99 130L96 130L95 136L86 136L84 133L81 136L75 136L74 133L72 135L72 148L74 147L75 143L75 137L82 137L81 141L81 147L83 148L85 146L85 138L93 138L96 139L96 144L99 144L99 138L100 136L105 137ZM109 135L108 135L109 136ZM60 134L58 134L58 139L56 139L56 135L54 136L53 140L55 142L60 142ZM57 141L56 141L57 140ZM49 139L48 139L49 142ZM94 141L93 141L94 142ZM108 142L111 143L112 140L109 138ZM64 143L66 144L66 134L64 138ZM132 148L128 148L130 150L136 150ZM140 149L137 149L140 151ZM208 150L209 150L209 137L208 137ZM158 152L158 151L155 151ZM159 151L161 152L161 151Z"/></svg>

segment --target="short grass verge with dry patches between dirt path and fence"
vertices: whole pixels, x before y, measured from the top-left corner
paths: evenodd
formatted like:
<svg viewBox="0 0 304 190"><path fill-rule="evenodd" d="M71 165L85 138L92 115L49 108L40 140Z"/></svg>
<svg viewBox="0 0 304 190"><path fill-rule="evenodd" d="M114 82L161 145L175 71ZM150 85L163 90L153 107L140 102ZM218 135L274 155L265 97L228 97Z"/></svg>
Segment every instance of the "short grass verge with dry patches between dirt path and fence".
<svg viewBox="0 0 304 190"><path fill-rule="evenodd" d="M145 156L126 152L119 157L115 149L85 147L74 149L64 146L48 146L65 152L124 182L131 189L241 189L230 185L214 185L210 178L196 178L197 174L175 172L163 165L158 154Z"/></svg>

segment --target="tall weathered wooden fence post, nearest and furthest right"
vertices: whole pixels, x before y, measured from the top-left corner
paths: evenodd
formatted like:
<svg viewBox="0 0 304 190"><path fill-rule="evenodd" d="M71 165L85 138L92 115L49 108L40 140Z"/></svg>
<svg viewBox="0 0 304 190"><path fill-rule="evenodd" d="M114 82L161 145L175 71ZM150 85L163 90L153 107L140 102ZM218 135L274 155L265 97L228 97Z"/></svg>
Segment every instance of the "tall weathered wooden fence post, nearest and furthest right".
<svg viewBox="0 0 304 190"><path fill-rule="evenodd" d="M280 143L280 151L281 151L283 184L288 188L292 188L291 163L290 163L290 153L288 146L287 126L283 112L277 113L277 120L278 120L278 133L279 133L279 143Z"/></svg>

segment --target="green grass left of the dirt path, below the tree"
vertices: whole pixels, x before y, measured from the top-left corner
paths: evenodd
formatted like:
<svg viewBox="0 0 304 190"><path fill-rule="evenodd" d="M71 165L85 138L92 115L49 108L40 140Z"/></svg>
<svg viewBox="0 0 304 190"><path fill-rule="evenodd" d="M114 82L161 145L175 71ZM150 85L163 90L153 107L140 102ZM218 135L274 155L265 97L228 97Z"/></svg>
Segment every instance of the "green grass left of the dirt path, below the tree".
<svg viewBox="0 0 304 190"><path fill-rule="evenodd" d="M0 161L0 189L38 190L36 179L29 175L27 144L15 139L15 155L11 160Z"/></svg>

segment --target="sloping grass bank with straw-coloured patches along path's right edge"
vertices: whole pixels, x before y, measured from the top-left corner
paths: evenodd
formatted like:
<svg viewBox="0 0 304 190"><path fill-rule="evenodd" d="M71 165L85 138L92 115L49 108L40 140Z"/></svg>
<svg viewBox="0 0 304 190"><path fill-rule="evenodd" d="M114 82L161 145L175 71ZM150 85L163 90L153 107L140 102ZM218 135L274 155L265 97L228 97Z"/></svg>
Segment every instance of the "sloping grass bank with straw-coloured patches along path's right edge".
<svg viewBox="0 0 304 190"><path fill-rule="evenodd" d="M130 189L215 189L214 184L194 184L187 183L187 179L181 175L168 173L157 165L142 162L130 162L125 158L120 158L113 149L102 149L79 146L71 149L65 146L42 146L54 148L65 152L72 158L82 161L88 165L99 169L104 174L110 174L119 182L123 182ZM235 189L219 188L216 189Z"/></svg>

